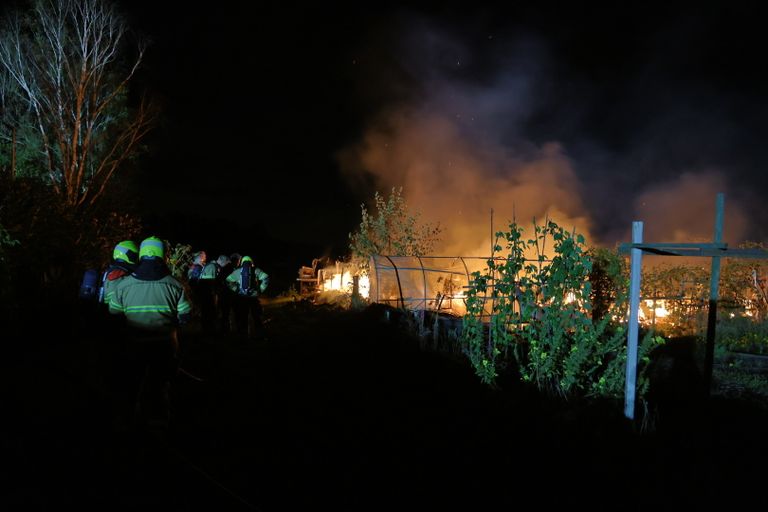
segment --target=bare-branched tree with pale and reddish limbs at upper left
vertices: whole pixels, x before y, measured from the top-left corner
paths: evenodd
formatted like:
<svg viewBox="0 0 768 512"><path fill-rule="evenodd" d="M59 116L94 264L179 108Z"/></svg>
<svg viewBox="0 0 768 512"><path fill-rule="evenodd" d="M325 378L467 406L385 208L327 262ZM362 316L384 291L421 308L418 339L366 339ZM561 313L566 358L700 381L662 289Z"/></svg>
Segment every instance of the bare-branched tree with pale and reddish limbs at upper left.
<svg viewBox="0 0 768 512"><path fill-rule="evenodd" d="M154 120L146 97L128 106L146 45L139 41L129 53L127 35L106 0L34 0L0 31L4 122L15 123L14 134L33 128L43 175L73 208L103 195Z"/></svg>

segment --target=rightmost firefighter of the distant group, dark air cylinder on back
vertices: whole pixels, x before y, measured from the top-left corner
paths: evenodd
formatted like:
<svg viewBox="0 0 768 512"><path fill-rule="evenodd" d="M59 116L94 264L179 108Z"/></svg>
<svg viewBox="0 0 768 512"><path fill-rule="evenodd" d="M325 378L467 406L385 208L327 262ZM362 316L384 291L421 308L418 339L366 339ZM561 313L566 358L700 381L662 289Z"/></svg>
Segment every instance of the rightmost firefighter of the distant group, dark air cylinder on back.
<svg viewBox="0 0 768 512"><path fill-rule="evenodd" d="M240 266L227 276L227 285L233 292L232 308L238 335L244 338L265 339L259 295L269 286L269 275L256 267L250 256L243 256Z"/></svg>

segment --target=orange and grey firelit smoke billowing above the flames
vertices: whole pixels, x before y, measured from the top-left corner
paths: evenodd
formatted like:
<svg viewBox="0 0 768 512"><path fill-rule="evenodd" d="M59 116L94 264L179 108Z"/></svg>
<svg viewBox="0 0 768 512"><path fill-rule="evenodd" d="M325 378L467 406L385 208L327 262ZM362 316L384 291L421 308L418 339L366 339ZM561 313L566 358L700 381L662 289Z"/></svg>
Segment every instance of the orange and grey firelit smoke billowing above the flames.
<svg viewBox="0 0 768 512"><path fill-rule="evenodd" d="M514 217L531 235L533 219L541 223L549 217L575 228L590 245L629 241L631 220L644 221L647 241L711 241L715 195L728 192L722 174L649 172L639 185L637 179L617 178L638 172L634 167L611 169L602 179L598 171L580 167L560 142L535 143L525 133L543 101L544 84L558 87L551 84L550 56L542 45L531 40L510 45L498 66L502 71L477 80L461 72L472 66L473 52L434 27L419 29L406 38L412 60L404 65L416 92L379 112L360 141L339 153L339 162L353 181L368 176L383 194L403 187L410 209L443 227L438 254L488 255L491 209L495 231ZM562 122L580 129L574 119ZM596 202L614 208L598 208ZM616 211L621 219L591 213ZM736 203L726 203L726 241L745 234L746 219Z"/></svg>

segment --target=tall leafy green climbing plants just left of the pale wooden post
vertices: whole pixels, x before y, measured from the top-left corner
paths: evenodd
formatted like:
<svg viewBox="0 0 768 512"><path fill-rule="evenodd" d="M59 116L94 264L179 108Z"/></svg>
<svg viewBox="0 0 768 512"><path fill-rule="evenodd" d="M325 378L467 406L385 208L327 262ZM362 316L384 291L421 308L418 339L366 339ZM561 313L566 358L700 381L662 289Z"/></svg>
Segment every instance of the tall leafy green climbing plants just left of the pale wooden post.
<svg viewBox="0 0 768 512"><path fill-rule="evenodd" d="M552 221L534 223L535 236L526 240L512 223L496 234L494 253L506 250L503 262L491 258L484 273L475 272L467 292L462 343L480 379L494 384L505 356L512 354L523 381L561 396L612 396L624 391L626 285L608 293L617 299L593 321L591 311L593 260L584 237ZM499 245L503 240L505 245ZM547 242L553 243L548 259ZM535 253L534 260L525 258ZM593 254L595 254L593 252ZM618 283L620 265L605 253L602 276ZM486 322L487 319L487 328ZM638 389L647 390L643 369L650 350L663 341L646 335L639 347ZM642 395L641 395L642 396Z"/></svg>

